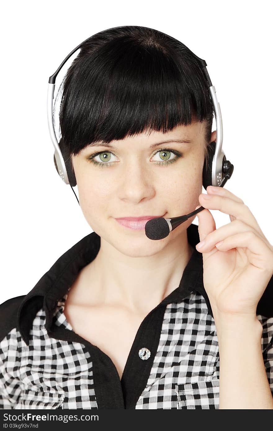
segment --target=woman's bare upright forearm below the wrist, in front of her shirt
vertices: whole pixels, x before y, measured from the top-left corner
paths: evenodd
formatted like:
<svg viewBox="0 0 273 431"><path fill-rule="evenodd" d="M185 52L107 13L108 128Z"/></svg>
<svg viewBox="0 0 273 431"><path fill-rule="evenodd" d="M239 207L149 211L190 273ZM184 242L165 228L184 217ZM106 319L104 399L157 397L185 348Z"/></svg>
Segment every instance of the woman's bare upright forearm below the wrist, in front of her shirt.
<svg viewBox="0 0 273 431"><path fill-rule="evenodd" d="M215 320L220 356L220 409L273 409L261 348L262 325L251 316Z"/></svg>

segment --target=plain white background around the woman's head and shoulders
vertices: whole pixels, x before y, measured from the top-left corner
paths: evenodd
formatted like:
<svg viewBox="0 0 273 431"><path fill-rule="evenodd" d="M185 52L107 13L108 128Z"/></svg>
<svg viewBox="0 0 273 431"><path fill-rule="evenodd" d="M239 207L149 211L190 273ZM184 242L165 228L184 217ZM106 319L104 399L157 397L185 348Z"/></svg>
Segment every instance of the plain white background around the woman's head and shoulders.
<svg viewBox="0 0 273 431"><path fill-rule="evenodd" d="M5 2L0 303L27 294L66 250L92 231L53 163L47 83L78 44L119 25L163 31L206 60L223 116L223 150L234 165L225 188L244 200L273 244L269 5L230 0ZM230 221L229 215L211 212L217 228Z"/></svg>

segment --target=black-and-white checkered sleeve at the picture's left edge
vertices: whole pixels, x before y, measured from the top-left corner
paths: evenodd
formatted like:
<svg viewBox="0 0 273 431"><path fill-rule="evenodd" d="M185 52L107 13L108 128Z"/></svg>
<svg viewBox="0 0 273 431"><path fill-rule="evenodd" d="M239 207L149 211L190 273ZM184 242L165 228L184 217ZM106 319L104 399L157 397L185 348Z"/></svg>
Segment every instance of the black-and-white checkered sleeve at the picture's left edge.
<svg viewBox="0 0 273 431"><path fill-rule="evenodd" d="M21 392L18 369L17 331L14 328L0 342L0 409L13 409Z"/></svg>

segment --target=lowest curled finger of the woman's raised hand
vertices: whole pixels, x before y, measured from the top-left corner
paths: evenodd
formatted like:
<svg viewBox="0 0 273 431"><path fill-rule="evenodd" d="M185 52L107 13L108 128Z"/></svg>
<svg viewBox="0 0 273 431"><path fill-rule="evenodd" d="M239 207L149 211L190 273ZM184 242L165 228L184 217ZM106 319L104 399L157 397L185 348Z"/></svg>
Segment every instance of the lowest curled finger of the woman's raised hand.
<svg viewBox="0 0 273 431"><path fill-rule="evenodd" d="M273 272L273 253L267 244L253 231L240 232L227 237L221 244L215 244L218 250L228 251L232 248L246 247L249 262L257 268Z"/></svg>

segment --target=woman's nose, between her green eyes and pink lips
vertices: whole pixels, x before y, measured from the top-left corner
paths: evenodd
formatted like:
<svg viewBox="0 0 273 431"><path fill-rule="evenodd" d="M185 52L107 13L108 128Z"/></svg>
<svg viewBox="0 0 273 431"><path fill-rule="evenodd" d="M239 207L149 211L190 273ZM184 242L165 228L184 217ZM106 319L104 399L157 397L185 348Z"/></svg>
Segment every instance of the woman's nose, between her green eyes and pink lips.
<svg viewBox="0 0 273 431"><path fill-rule="evenodd" d="M134 160L127 162L121 172L118 187L119 198L132 203L154 197L154 179L144 161Z"/></svg>

